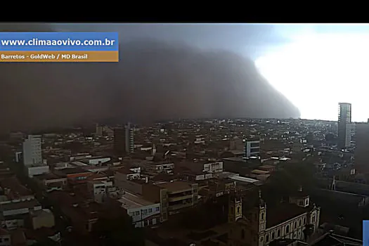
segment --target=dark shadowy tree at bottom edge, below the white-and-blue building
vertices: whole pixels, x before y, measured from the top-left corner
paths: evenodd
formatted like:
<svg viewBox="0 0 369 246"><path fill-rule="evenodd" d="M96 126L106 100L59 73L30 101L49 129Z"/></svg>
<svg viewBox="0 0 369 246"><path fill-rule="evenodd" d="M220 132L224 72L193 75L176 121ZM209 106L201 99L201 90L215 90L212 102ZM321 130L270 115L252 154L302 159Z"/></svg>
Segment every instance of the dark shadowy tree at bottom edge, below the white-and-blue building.
<svg viewBox="0 0 369 246"><path fill-rule="evenodd" d="M98 219L96 224L93 225L93 235L96 235L101 245L145 245L142 228L134 228L131 217L123 214Z"/></svg>

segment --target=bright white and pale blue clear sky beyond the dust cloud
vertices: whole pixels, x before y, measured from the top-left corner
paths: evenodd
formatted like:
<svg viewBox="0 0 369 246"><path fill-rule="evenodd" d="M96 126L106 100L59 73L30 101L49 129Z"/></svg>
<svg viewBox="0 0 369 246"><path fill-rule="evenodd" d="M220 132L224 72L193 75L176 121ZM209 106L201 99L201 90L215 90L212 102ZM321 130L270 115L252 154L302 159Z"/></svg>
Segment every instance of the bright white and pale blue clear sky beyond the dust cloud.
<svg viewBox="0 0 369 246"><path fill-rule="evenodd" d="M68 30L67 25L58 28ZM368 25L91 25L91 30L96 28L122 29L122 39L153 37L250 57L268 82L299 108L302 118L336 120L339 102L352 103L354 121L369 117Z"/></svg>

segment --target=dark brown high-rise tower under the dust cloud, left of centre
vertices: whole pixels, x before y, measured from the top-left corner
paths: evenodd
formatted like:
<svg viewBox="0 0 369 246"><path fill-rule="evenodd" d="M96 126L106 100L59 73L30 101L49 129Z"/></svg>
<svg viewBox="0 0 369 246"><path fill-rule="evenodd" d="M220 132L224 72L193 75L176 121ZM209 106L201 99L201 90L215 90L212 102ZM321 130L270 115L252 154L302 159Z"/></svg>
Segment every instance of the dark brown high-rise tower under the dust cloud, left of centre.
<svg viewBox="0 0 369 246"><path fill-rule="evenodd" d="M134 129L130 123L114 129L114 150L117 155L134 152Z"/></svg>

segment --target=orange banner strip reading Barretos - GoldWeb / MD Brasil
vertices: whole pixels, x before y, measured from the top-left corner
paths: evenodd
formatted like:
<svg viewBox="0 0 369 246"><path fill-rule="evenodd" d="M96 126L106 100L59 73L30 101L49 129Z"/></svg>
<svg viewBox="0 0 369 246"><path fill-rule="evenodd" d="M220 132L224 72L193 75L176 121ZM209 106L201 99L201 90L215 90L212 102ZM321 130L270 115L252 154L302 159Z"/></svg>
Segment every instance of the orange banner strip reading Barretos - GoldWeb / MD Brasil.
<svg viewBox="0 0 369 246"><path fill-rule="evenodd" d="M2 63L117 63L119 51L0 51Z"/></svg>

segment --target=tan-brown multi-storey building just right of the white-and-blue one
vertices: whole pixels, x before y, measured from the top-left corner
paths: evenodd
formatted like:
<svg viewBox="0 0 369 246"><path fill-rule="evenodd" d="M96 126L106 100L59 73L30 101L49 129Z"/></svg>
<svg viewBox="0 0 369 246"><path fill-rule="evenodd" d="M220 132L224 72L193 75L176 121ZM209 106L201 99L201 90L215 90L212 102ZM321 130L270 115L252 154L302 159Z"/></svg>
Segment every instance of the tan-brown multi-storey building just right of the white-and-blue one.
<svg viewBox="0 0 369 246"><path fill-rule="evenodd" d="M166 221L168 215L198 203L198 183L171 181L145 184L142 193L145 199L160 203L162 221Z"/></svg>

